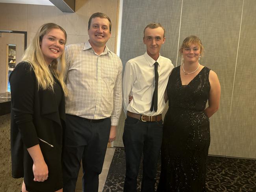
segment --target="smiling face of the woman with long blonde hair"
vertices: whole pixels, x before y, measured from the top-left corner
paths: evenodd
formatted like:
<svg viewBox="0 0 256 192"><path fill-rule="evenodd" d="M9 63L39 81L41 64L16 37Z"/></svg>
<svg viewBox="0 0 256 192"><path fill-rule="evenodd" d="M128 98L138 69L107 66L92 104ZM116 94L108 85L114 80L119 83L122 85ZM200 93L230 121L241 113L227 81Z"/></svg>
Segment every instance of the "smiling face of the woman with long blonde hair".
<svg viewBox="0 0 256 192"><path fill-rule="evenodd" d="M54 59L59 58L63 54L64 45L65 34L62 30L52 28L48 31L40 42L46 63L50 64Z"/></svg>

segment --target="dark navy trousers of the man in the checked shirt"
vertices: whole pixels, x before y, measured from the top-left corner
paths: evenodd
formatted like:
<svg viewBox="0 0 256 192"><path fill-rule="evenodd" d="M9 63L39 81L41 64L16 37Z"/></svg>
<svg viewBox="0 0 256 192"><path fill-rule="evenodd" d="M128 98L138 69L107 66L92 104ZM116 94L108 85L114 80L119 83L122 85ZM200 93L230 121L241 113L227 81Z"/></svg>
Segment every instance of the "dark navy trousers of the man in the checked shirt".
<svg viewBox="0 0 256 192"><path fill-rule="evenodd" d="M85 118L66 115L63 139L63 192L75 192L82 159L83 192L98 192L98 175L102 171L107 150L110 118L89 122Z"/></svg>

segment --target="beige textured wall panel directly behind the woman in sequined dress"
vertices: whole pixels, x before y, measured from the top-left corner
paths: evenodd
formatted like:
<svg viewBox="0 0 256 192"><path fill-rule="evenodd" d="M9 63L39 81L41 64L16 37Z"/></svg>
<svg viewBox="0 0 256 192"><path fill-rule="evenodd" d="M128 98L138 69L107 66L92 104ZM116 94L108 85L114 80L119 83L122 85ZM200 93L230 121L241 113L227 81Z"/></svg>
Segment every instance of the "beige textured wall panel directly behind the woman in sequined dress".
<svg viewBox="0 0 256 192"><path fill-rule="evenodd" d="M199 62L215 71L221 83L220 109L210 118L212 155L226 155L242 4L243 0L183 1L180 44L187 36L197 35L205 47Z"/></svg>

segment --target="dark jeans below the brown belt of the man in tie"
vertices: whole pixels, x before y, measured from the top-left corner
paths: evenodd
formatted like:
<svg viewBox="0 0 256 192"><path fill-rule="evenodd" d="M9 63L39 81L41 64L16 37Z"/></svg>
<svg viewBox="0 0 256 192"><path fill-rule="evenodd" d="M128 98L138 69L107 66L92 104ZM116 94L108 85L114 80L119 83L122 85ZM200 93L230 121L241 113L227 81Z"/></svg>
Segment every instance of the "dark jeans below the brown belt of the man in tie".
<svg viewBox="0 0 256 192"><path fill-rule="evenodd" d="M141 192L154 192L157 162L163 135L163 121L142 122L127 116L124 125L126 174L124 192L137 192L137 176L143 153Z"/></svg>

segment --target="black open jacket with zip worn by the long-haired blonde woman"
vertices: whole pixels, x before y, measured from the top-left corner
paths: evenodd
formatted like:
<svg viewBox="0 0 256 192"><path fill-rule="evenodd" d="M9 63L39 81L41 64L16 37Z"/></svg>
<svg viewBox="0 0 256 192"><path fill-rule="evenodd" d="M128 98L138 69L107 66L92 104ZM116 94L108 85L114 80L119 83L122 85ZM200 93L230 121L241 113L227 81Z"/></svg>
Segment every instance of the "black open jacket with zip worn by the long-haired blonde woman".
<svg viewBox="0 0 256 192"><path fill-rule="evenodd" d="M62 129L65 128L65 97L61 89L61 103L57 106L52 90L38 90L35 72L26 62L15 67L9 81L12 176L20 178L24 175L23 165L26 164L23 162L26 159L24 155L29 155L24 150L39 144L39 138L61 149Z"/></svg>

